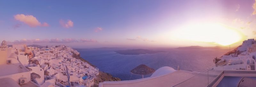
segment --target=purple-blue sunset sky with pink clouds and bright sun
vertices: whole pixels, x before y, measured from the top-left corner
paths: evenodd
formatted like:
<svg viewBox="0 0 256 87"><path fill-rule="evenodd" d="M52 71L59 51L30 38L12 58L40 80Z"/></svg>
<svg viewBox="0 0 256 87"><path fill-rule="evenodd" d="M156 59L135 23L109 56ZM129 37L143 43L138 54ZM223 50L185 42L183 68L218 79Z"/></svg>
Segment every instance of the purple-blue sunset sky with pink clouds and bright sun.
<svg viewBox="0 0 256 87"><path fill-rule="evenodd" d="M256 37L255 0L0 0L8 44L237 46Z"/></svg>

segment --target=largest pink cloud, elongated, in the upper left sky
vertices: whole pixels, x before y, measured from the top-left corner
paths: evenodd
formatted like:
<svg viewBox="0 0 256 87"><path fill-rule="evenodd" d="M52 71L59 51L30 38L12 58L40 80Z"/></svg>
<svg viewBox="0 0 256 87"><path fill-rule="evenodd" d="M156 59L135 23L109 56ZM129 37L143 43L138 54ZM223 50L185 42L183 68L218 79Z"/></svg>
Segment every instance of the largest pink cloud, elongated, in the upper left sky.
<svg viewBox="0 0 256 87"><path fill-rule="evenodd" d="M17 14L14 15L14 19L18 20L20 22L23 22L25 24L27 24L30 27L36 27L36 26L49 26L47 23L43 23L41 24L41 22L39 22L36 17L34 17L33 15L24 15L24 14Z"/></svg>

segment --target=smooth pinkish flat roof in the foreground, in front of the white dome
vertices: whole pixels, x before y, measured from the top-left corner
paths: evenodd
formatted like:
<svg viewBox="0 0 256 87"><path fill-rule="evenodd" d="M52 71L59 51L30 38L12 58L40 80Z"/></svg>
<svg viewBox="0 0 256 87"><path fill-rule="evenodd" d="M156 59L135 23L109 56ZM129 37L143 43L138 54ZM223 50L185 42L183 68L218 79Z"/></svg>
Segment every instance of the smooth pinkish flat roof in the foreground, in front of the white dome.
<svg viewBox="0 0 256 87"><path fill-rule="evenodd" d="M106 81L102 83L102 87L172 87L192 76L195 76L192 72L177 70L170 74L157 77L127 81Z"/></svg>

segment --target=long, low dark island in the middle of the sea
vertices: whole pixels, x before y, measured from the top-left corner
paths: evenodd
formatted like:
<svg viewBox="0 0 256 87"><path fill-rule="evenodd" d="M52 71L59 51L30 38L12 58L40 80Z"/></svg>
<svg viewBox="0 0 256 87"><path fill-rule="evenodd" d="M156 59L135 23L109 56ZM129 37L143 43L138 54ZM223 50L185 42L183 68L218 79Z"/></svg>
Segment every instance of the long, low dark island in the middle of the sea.
<svg viewBox="0 0 256 87"><path fill-rule="evenodd" d="M124 55L164 53L164 51L154 51L154 50L148 50L148 49L129 49L129 50L118 50L115 52L117 54L124 54Z"/></svg>

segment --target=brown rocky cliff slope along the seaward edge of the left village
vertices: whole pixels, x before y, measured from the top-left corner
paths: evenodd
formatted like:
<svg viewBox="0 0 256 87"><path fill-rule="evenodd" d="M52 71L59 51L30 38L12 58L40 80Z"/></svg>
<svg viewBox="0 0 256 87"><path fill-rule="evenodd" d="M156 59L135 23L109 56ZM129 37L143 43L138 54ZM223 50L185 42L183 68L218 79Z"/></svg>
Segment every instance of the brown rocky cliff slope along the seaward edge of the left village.
<svg viewBox="0 0 256 87"><path fill-rule="evenodd" d="M83 59L82 57L80 57L80 54L75 54L73 53L72 57L76 58L76 59L80 59L84 62L87 62L88 64L90 64L92 67L96 68L96 66L92 65L90 62L86 61L85 59ZM105 72L100 72L99 75L97 75L98 78L94 79L94 85L93 87L98 87L100 82L103 81L121 81L120 78L117 77L113 77L112 75L105 73Z"/></svg>

